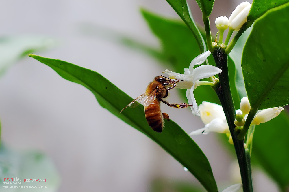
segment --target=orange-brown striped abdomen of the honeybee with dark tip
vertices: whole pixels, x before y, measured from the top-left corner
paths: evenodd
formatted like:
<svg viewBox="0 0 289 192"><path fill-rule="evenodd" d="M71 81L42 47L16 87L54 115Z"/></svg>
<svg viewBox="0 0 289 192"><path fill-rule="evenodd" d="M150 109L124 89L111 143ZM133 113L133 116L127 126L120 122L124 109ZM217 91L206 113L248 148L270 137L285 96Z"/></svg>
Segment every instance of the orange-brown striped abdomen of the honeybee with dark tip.
<svg viewBox="0 0 289 192"><path fill-rule="evenodd" d="M144 107L144 114L149 126L156 132L162 132L164 120L158 99L155 99L149 106Z"/></svg>

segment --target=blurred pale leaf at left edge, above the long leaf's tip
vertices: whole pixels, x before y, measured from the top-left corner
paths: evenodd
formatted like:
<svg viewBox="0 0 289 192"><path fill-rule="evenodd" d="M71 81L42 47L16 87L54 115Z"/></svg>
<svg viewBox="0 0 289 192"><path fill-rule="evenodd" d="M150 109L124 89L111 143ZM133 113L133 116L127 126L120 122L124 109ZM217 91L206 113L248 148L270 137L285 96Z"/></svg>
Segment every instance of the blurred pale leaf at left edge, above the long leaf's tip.
<svg viewBox="0 0 289 192"><path fill-rule="evenodd" d="M37 36L0 37L0 76L13 63L29 53L55 46L52 39Z"/></svg>

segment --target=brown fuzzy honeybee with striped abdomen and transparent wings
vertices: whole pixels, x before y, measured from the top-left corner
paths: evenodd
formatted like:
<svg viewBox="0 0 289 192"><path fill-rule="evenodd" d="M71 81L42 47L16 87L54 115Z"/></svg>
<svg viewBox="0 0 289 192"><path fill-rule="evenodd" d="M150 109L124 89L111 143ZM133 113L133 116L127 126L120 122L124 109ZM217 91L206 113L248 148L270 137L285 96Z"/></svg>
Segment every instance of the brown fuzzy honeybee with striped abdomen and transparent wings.
<svg viewBox="0 0 289 192"><path fill-rule="evenodd" d="M148 84L146 92L131 101L125 108L134 108L138 106L139 103L143 103L147 123L154 131L161 133L164 128L164 118L168 121L170 118L168 114L161 113L160 101L174 108L192 106L186 103L170 104L163 100L163 98L168 96L168 91L173 89L179 81L180 80L171 80L165 76L156 76L153 81ZM125 108L123 108L121 112L125 110Z"/></svg>

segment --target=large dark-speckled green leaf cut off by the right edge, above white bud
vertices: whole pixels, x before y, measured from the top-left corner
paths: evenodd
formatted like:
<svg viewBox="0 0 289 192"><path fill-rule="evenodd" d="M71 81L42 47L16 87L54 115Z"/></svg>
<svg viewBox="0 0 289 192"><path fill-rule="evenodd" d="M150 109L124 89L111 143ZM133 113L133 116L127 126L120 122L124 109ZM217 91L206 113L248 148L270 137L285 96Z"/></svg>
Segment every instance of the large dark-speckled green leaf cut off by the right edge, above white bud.
<svg viewBox="0 0 289 192"><path fill-rule="evenodd" d="M245 44L242 71L255 110L288 104L288 17L289 3L269 10L255 22Z"/></svg>

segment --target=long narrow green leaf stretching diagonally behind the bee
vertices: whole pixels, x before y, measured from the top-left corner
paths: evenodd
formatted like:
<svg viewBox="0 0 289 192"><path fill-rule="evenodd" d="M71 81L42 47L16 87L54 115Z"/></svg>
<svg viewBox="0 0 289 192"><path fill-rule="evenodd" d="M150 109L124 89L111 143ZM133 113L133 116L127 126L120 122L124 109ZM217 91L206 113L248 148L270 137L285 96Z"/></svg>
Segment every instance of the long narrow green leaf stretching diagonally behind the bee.
<svg viewBox="0 0 289 192"><path fill-rule="evenodd" d="M147 135L171 154L201 182L208 191L217 191L216 181L208 159L197 144L173 121L167 121L162 133L153 131L144 117L143 106L121 109L132 98L95 71L65 61L30 54L48 65L66 80L81 84L92 91L99 104L132 127Z"/></svg>

